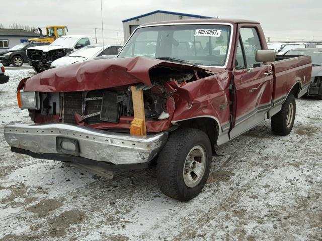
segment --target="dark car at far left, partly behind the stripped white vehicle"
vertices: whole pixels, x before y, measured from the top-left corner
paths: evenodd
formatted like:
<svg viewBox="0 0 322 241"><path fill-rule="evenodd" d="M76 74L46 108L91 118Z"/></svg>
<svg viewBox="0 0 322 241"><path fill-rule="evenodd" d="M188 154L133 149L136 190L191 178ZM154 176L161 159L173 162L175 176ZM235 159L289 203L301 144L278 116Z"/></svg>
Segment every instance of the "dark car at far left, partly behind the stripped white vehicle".
<svg viewBox="0 0 322 241"><path fill-rule="evenodd" d="M24 63L28 63L26 50L31 47L49 45L49 43L38 42L25 42L18 44L11 49L0 51L0 62L4 66L13 64L14 66L22 66Z"/></svg>

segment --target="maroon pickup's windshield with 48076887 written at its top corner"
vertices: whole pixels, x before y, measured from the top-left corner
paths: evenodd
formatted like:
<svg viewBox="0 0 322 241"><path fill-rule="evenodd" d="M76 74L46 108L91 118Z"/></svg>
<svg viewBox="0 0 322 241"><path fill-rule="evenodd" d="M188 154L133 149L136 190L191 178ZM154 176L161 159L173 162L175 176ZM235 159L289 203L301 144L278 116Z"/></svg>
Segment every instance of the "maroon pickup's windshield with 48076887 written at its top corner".
<svg viewBox="0 0 322 241"><path fill-rule="evenodd" d="M171 25L139 28L118 58L143 56L176 58L197 65L224 66L230 27L226 25Z"/></svg>

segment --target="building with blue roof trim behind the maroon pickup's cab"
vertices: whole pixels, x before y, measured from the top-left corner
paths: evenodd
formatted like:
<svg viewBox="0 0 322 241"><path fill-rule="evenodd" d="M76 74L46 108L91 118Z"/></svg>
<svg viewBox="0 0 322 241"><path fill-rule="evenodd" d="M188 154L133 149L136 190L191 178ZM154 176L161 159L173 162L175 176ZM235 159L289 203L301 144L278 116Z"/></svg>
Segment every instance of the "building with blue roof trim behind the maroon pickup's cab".
<svg viewBox="0 0 322 241"><path fill-rule="evenodd" d="M151 13L143 14L143 15L136 16L136 17L122 21L123 33L124 33L124 43L130 37L130 35L133 33L133 31L141 24L160 22L160 21L170 21L170 20L212 19L212 18L213 17L156 10Z"/></svg>

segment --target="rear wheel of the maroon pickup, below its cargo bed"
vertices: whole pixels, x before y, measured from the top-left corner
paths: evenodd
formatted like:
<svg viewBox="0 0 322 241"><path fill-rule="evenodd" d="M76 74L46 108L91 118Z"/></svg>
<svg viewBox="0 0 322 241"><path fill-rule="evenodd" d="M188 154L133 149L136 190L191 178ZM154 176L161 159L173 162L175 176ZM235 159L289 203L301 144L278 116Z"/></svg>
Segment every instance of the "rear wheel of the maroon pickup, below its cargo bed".
<svg viewBox="0 0 322 241"><path fill-rule="evenodd" d="M295 97L290 93L282 104L281 110L271 118L272 132L278 136L290 134L294 125L295 113Z"/></svg>

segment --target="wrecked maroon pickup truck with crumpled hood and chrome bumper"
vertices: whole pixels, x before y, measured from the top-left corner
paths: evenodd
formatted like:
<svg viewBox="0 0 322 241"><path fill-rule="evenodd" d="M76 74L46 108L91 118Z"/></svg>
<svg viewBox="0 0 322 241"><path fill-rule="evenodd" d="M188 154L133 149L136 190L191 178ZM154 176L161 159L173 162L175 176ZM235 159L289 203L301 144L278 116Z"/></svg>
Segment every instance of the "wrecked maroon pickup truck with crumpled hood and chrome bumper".
<svg viewBox="0 0 322 241"><path fill-rule="evenodd" d="M160 189L189 200L203 189L217 146L267 118L274 134L291 132L310 74L310 57L268 50L257 22L142 25L116 59L23 79L18 104L35 125L7 125L5 137L13 152L103 175L153 159Z"/></svg>

